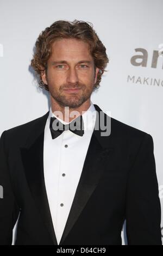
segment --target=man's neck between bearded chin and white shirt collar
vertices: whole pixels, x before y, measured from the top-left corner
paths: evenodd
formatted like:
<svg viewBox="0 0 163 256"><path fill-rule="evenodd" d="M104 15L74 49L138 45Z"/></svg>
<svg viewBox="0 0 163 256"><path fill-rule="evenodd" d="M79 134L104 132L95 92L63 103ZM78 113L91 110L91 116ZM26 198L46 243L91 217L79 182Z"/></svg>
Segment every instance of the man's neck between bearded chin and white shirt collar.
<svg viewBox="0 0 163 256"><path fill-rule="evenodd" d="M52 112L61 120L66 123L70 123L74 118L84 114L91 105L90 99L85 101L80 107L70 108L59 105L58 102L54 101L51 97L51 108ZM73 112L73 113L72 113ZM74 113L77 112L77 113Z"/></svg>

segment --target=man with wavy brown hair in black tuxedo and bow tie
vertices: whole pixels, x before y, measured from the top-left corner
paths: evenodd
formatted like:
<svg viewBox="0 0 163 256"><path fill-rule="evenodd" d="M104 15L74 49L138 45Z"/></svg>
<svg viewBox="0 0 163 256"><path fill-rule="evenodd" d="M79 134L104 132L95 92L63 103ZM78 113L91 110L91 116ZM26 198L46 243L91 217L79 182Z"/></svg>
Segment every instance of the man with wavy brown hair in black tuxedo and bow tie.
<svg viewBox="0 0 163 256"><path fill-rule="evenodd" d="M124 220L129 245L161 245L153 139L90 100L107 63L87 22L39 35L32 66L51 108L2 133L1 245L17 218L15 245L121 245Z"/></svg>

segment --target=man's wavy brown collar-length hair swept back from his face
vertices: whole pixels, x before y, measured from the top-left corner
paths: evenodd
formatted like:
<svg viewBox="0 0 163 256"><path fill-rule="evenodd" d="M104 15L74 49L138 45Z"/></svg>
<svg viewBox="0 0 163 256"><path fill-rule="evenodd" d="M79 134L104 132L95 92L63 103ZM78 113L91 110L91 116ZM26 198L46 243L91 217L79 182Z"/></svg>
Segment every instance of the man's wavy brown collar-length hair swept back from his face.
<svg viewBox="0 0 163 256"><path fill-rule="evenodd" d="M74 20L73 22L59 20L47 27L36 40L35 52L31 60L31 66L39 75L39 87L49 91L47 84L43 83L41 74L47 72L47 61L52 54L52 44L58 39L78 39L89 44L90 53L93 57L95 70L99 68L97 81L93 89L99 88L102 74L109 63L106 48L99 40L91 22ZM47 74L47 73L46 73Z"/></svg>

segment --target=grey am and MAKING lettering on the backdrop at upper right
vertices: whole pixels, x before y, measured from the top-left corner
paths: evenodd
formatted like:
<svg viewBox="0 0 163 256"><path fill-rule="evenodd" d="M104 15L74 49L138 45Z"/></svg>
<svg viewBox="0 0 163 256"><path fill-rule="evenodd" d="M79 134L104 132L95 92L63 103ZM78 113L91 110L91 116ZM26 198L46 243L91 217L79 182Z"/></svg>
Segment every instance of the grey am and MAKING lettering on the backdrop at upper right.
<svg viewBox="0 0 163 256"><path fill-rule="evenodd" d="M162 66L161 69L163 69L163 44L160 44L158 46L159 50L154 50L152 59L151 59L151 68L156 69L158 65L158 60L162 59ZM141 54L136 54L131 57L130 63L133 66L142 66L147 67L148 62L148 51L144 48L135 48L135 52L140 52ZM159 67L160 68L160 67ZM135 76L135 75L128 75L127 82L132 82L135 84L147 84L148 86L156 86L156 87L163 87L163 80L162 78L155 78L155 77L142 77L141 76Z"/></svg>

